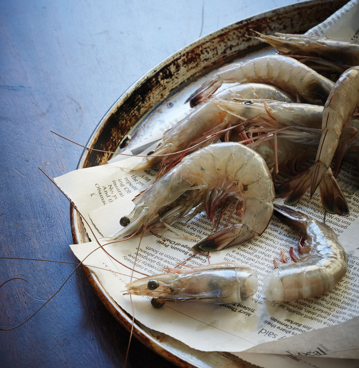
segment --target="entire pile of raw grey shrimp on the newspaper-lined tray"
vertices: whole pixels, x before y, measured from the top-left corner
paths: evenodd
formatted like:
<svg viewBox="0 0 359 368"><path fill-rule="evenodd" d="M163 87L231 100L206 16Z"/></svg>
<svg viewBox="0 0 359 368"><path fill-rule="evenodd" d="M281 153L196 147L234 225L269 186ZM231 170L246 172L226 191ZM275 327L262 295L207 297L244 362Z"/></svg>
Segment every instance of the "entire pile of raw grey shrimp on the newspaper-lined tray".
<svg viewBox="0 0 359 368"><path fill-rule="evenodd" d="M192 113L165 132L157 149L133 168L137 170L160 165L157 181L135 199L135 209L122 218L125 228L111 241L135 233L143 234L149 229L171 228L172 223L187 220L189 213L193 216L193 213L203 209L213 220L214 210L220 205L221 216L230 197L230 204L235 204L237 213L242 216L242 224L227 227L227 222L224 229L200 241L192 251L218 251L261 234L273 208L271 189L267 185L269 174L265 179L266 185L260 183L252 171L246 172L243 160L239 159L241 154L230 170L226 167L224 174L222 167L226 163L233 164L233 153L225 156L225 144L217 146L218 150L224 149L221 157L206 150L206 146L214 148L214 142L218 139L239 142L241 145L238 147L250 148L253 163L255 158L257 160L256 155L262 156L272 180L279 172L285 171L292 176L276 186L276 195L287 197L287 205L298 202L309 187L312 197L319 187L327 212L349 215L348 204L334 175L338 173L345 155L351 153L357 160L359 157L356 135L359 127L359 46L305 35L259 34L258 38L277 47L278 54L220 68L189 96L186 102L195 107ZM333 49L336 51L333 52ZM318 71L330 69L342 74L334 83L305 65L308 60L316 64ZM224 83L238 84L214 95ZM198 156L195 156L196 152ZM334 155L333 174L331 164ZM204 179L209 170L204 164L208 163L209 157L213 175L217 171L220 173L216 180L212 177ZM212 158L217 165L212 164ZM313 165L301 170L300 163L308 158L313 160ZM198 160L195 166L193 160ZM263 171L263 161L260 166ZM194 167L197 170L195 175L192 172ZM229 175L229 171L235 172L238 177ZM257 173L257 168L253 171ZM234 190L233 183L243 175L245 180L238 181ZM179 177L185 187L177 192L177 187L181 187ZM159 200L153 205L156 191L165 193L161 192ZM266 210L263 212L257 208L255 211L250 207L255 202L266 203ZM276 270L263 280L264 296L271 301L289 301L330 290L344 276L348 261L333 230L285 206L274 205L274 209L278 217L306 237L307 243L304 247L299 243L299 255L291 248L294 263L288 263L284 252L281 252L281 261L274 260ZM216 224L214 220L213 223ZM239 231L235 229L237 227ZM234 272L237 266L225 267L231 269L229 272ZM213 272L223 267L213 265ZM210 270L212 267L203 269L206 280L212 280L212 276L208 275ZM185 291L187 287L193 289L191 281L188 281L195 277L192 273L198 277L201 270L191 270L191 277L184 276L188 275L188 270L174 272L168 269L167 272L128 284L127 293L152 296L157 306L163 305L165 300L208 300L209 297L200 296L202 292L198 290L189 293L191 296ZM199 283L201 286L205 284L202 281ZM249 284L253 285L253 282ZM226 288L224 283L222 290ZM254 290L253 287L249 289ZM237 300L234 296L232 299L233 302ZM218 296L218 300L223 300L222 296Z"/></svg>

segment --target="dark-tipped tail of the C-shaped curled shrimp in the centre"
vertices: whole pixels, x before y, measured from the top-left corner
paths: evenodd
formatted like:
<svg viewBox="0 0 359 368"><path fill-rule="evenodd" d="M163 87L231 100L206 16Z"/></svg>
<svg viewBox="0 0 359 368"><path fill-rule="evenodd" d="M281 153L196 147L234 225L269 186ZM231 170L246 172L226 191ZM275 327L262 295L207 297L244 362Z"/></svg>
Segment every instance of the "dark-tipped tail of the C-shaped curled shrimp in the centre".
<svg viewBox="0 0 359 368"><path fill-rule="evenodd" d="M237 224L216 231L209 237L201 240L192 247L192 252L216 252L227 247L243 243L258 235L255 231L248 229L246 225Z"/></svg>

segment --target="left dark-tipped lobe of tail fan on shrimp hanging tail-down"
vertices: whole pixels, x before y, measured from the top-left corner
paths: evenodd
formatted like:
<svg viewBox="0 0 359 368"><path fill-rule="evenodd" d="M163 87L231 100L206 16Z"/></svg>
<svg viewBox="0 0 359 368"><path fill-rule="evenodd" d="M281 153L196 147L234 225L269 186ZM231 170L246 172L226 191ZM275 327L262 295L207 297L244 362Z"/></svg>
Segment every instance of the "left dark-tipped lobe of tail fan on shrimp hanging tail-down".
<svg viewBox="0 0 359 368"><path fill-rule="evenodd" d="M294 178L277 185L276 197L287 197L284 203L286 205L294 205L302 199L305 192L309 189L311 177L312 169L308 169Z"/></svg>

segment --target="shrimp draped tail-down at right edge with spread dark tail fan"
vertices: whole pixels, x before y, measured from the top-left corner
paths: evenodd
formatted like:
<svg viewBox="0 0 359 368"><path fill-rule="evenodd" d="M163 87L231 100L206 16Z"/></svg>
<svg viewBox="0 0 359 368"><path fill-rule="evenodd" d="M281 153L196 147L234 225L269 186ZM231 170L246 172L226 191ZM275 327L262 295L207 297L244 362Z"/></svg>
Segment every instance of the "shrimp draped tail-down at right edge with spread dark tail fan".
<svg viewBox="0 0 359 368"><path fill-rule="evenodd" d="M335 83L323 110L321 138L314 165L276 188L287 204L298 202L310 185L310 197L320 185L321 201L329 213L349 215L348 204L330 168L341 131L359 107L359 66L345 71Z"/></svg>

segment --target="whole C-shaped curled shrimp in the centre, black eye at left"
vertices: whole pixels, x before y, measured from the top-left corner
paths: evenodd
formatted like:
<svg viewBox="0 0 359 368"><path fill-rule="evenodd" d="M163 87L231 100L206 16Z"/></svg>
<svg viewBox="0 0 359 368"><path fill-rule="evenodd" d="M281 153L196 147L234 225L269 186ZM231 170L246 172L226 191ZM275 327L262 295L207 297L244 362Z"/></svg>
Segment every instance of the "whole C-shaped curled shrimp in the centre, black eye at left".
<svg viewBox="0 0 359 368"><path fill-rule="evenodd" d="M217 251L262 234L273 200L271 174L258 153L234 142L212 144L186 156L136 198L134 210L121 219L127 226L111 240L188 220L204 209L213 219L218 205L242 204L242 224L217 231L192 248Z"/></svg>

